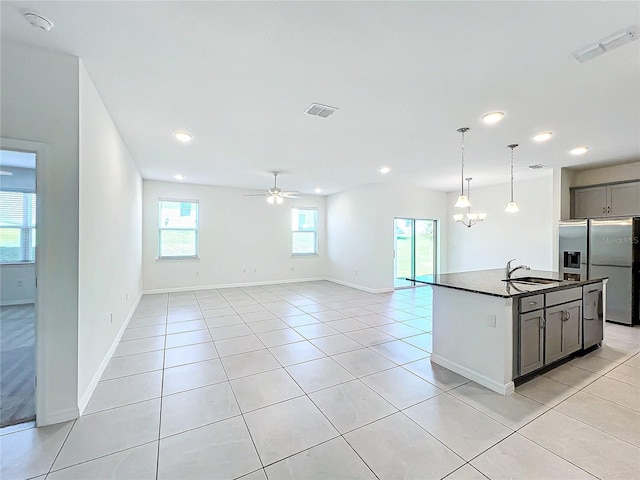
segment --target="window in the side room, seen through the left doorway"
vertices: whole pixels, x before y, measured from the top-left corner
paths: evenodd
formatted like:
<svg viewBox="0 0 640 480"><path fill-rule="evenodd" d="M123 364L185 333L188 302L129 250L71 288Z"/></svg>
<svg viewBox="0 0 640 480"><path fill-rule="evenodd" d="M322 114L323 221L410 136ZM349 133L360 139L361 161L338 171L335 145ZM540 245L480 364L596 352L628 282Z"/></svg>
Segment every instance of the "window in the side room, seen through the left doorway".
<svg viewBox="0 0 640 480"><path fill-rule="evenodd" d="M36 261L36 194L0 191L0 263Z"/></svg>

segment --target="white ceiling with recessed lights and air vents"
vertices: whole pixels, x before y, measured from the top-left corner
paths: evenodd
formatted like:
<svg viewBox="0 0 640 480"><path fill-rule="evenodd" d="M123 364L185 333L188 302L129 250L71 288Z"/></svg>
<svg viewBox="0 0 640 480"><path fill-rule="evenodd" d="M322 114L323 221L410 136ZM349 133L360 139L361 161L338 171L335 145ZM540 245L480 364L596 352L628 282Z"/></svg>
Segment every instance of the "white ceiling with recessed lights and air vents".
<svg viewBox="0 0 640 480"><path fill-rule="evenodd" d="M147 179L268 188L279 170L306 193L452 191L463 126L472 187L508 182L509 143L516 182L540 174L530 164L640 159L640 41L570 56L640 26L637 1L2 1L1 15L3 40L83 60ZM339 110L305 115L313 102ZM482 125L493 110L505 119ZM534 144L542 130L556 135Z"/></svg>

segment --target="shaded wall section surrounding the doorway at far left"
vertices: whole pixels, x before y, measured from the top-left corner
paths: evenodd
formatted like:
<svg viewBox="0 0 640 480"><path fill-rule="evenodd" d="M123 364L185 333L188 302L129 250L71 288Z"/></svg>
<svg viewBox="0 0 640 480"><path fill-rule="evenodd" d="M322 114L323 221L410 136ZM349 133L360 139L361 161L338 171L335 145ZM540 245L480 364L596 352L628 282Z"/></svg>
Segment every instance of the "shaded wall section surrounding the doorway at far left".
<svg viewBox="0 0 640 480"><path fill-rule="evenodd" d="M42 145L36 170L36 416L45 425L78 415L79 60L3 39L0 62L3 146Z"/></svg>

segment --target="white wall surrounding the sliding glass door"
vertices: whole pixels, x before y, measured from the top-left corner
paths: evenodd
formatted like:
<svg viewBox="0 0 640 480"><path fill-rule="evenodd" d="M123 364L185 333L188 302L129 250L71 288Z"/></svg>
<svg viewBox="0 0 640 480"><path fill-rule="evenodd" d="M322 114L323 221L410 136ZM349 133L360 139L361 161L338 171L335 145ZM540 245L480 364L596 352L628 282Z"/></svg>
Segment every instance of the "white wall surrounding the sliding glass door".
<svg viewBox="0 0 640 480"><path fill-rule="evenodd" d="M442 250L447 245L446 200L446 193L393 185L366 185L329 196L328 277L370 291L392 290L394 218L440 220Z"/></svg>

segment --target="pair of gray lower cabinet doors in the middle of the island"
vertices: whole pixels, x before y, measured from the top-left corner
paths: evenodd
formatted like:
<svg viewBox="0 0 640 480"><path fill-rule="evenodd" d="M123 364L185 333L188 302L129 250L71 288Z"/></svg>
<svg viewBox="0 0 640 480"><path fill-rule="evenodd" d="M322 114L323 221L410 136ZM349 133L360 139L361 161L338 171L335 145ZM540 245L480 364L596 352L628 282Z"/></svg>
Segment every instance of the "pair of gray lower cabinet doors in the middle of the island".
<svg viewBox="0 0 640 480"><path fill-rule="evenodd" d="M555 362L582 347L582 302L547 308L544 322L544 363Z"/></svg>

